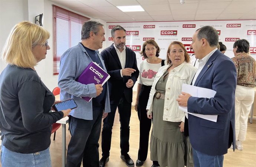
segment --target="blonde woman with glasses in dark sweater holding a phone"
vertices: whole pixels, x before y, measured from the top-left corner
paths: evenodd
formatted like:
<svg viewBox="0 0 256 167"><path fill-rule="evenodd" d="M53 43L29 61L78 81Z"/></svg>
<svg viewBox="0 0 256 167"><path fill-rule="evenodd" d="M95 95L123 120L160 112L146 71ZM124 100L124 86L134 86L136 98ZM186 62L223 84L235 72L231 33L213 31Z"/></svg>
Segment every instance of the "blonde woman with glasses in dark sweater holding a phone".
<svg viewBox="0 0 256 167"><path fill-rule="evenodd" d="M70 109L50 112L55 96L35 66L46 58L50 33L29 21L16 24L3 47L0 75L2 167L51 167L52 124Z"/></svg>

